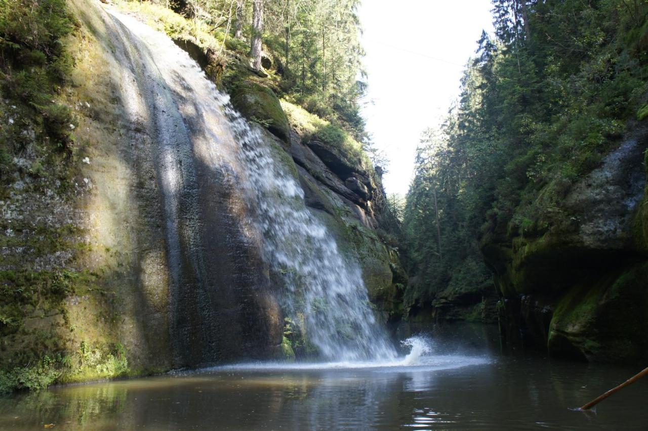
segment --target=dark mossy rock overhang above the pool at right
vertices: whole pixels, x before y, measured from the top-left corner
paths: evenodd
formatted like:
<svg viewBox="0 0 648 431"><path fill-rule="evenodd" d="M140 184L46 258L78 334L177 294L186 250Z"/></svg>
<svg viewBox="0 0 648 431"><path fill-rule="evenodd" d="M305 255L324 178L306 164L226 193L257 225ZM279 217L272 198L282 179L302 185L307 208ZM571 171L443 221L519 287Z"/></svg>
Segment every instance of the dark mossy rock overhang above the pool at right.
<svg viewBox="0 0 648 431"><path fill-rule="evenodd" d="M648 359L647 147L648 130L632 126L599 168L562 191L553 210L559 216L538 223L546 229L522 236L496 227L483 238L511 347L597 361Z"/></svg>

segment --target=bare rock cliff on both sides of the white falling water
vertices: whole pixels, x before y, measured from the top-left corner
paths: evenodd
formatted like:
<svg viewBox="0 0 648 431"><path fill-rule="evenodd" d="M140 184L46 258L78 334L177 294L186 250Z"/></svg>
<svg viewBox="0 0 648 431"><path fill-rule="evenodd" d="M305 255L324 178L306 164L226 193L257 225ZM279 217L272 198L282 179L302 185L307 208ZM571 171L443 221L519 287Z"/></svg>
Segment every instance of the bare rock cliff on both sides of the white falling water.
<svg viewBox="0 0 648 431"><path fill-rule="evenodd" d="M275 274L249 223L254 204L241 190L240 157L226 127L209 136L200 127L222 116L201 105L198 89L152 60L155 53L117 20L96 5L73 5L83 37L74 41L68 98L77 107L83 133L76 142L84 156L73 192L59 197L54 185L25 189L25 177L0 202L5 216L21 220L13 221L19 237L0 243L3 258L11 256L0 268L3 280L21 289L38 274L62 288L48 302L0 304L3 313L16 314L0 324L0 370L78 351L96 352L107 364L126 355L130 375L294 355ZM398 318L397 285L406 276L397 251L376 231L379 179L319 157L290 129L268 87L238 82L231 100L267 127L260 133L273 159L299 179L307 205L345 258L360 263L380 318ZM339 149L330 152L347 159ZM14 235L8 223L0 225L7 238ZM64 239L34 254L26 247L30 232L45 227ZM79 371L60 381L114 375Z"/></svg>

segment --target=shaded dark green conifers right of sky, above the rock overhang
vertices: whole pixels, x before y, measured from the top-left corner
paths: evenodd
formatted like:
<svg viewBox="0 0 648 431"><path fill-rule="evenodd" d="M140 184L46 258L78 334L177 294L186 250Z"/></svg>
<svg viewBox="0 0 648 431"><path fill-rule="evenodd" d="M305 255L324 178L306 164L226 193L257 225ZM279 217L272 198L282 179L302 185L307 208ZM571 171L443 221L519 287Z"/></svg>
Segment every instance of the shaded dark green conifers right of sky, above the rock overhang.
<svg viewBox="0 0 648 431"><path fill-rule="evenodd" d="M417 153L404 210L410 304L455 274L478 285L480 236L542 236L572 223L561 199L648 115L648 4L494 0L459 103ZM630 6L629 6L630 5ZM470 276L470 274L473 274ZM465 276L462 276L465 278Z"/></svg>

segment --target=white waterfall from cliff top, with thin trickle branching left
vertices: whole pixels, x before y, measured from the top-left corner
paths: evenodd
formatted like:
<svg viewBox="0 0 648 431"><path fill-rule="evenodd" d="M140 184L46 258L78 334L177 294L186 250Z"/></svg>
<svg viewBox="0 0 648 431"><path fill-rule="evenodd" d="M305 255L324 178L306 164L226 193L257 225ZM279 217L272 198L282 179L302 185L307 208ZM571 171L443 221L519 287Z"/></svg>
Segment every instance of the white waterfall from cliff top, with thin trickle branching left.
<svg viewBox="0 0 648 431"><path fill-rule="evenodd" d="M250 127L229 104L229 97L167 36L132 17L110 14L119 37L128 40L124 45L130 44L132 52L126 54L141 57L139 76L148 81L136 83L128 76L124 85L130 85L133 93L151 94L153 99L144 111L155 117L161 137L157 144L159 177L165 196L170 265L181 265L181 238L189 243L199 241L186 227L186 219L201 223L200 215L191 208L195 198L186 192L197 188L199 181L195 162L185 154L191 151L231 177L248 197L244 216L250 217L248 241L260 242L266 264L281 274L284 287L279 304L283 313L303 321L308 340L320 355L346 361L395 358L395 349L371 311L358 263L342 256L330 232L308 210L301 186L277 159L276 149L270 148L259 128ZM132 116L145 116L143 107L135 102L131 105ZM187 132L179 134L180 129ZM182 199L179 189L183 189ZM190 259L198 262L192 271L200 280L201 260L197 256ZM174 283L182 285L181 271L172 271ZM203 297L205 301L210 298L208 293Z"/></svg>

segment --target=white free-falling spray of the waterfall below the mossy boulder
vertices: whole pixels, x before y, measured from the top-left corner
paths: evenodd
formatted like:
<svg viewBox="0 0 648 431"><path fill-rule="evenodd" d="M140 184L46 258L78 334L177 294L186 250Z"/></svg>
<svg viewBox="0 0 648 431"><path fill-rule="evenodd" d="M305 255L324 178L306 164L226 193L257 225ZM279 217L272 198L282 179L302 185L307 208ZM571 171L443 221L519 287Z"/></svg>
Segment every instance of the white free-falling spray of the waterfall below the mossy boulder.
<svg viewBox="0 0 648 431"><path fill-rule="evenodd" d="M311 214L304 192L286 168L274 160L259 129L216 93L242 145L250 195L259 205L259 226L266 259L283 275L282 302L297 319L303 309L307 335L329 359L360 360L395 357L369 305L358 264L345 260L327 228Z"/></svg>

